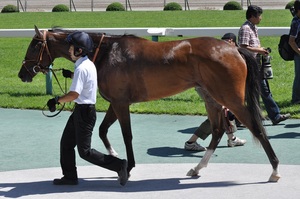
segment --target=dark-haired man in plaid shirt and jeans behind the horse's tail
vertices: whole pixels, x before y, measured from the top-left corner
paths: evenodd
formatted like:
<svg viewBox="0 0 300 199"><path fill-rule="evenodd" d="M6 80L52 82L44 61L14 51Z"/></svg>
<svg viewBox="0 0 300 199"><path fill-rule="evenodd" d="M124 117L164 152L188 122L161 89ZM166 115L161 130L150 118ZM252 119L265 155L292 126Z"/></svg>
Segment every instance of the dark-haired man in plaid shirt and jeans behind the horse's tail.
<svg viewBox="0 0 300 199"><path fill-rule="evenodd" d="M262 55L266 56L269 52L260 46L258 38L257 27L262 19L263 10L255 5L248 7L246 12L247 21L241 26L238 35L238 43L242 48L248 49L256 57L257 63L260 67L261 75L261 98L271 119L273 125L276 125L290 117L290 114L280 114L280 110L276 102L273 100L272 93L269 87L269 82L263 75L263 68L261 67Z"/></svg>

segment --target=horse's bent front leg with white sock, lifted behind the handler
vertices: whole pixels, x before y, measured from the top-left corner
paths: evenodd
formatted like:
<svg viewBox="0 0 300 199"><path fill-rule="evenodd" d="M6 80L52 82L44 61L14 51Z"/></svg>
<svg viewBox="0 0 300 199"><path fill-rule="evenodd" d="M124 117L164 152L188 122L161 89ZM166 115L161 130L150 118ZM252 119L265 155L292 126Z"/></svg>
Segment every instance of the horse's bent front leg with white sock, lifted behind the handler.
<svg viewBox="0 0 300 199"><path fill-rule="evenodd" d="M113 155L115 157L118 156L118 153L113 149L111 146L108 138L107 138L107 133L109 127L117 120L117 116L112 108L111 105L109 105L109 108L105 114L105 117L102 121L102 123L99 126L99 137L101 138L106 150L110 155Z"/></svg>

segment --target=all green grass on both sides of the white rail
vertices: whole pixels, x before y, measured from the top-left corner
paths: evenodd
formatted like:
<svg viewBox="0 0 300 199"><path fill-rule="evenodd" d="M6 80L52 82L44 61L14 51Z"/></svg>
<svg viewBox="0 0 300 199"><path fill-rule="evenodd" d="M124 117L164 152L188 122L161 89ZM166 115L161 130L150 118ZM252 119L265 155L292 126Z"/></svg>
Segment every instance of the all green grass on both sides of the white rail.
<svg viewBox="0 0 300 199"><path fill-rule="evenodd" d="M216 20L212 20L216 19ZM50 28L111 28L111 27L239 27L245 21L245 11L180 11L180 12L70 12L70 13L10 13L0 14L0 29ZM291 21L288 10L266 10L261 27L287 27ZM150 39L150 38L148 38ZM160 38L160 41L180 39ZM265 47L271 47L274 79L270 86L274 99L283 113L290 112L300 118L300 105L291 105L294 77L293 62L283 61L277 52L279 37L261 37ZM0 107L42 109L52 96L45 94L45 76L37 75L32 83L23 83L17 77L31 38L0 38ZM63 59L54 62L54 68L72 69L73 64ZM58 74L61 84L64 79ZM70 81L67 82L70 85ZM54 95L61 95L53 83ZM230 94L230 93L229 93ZM108 103L98 96L97 110L105 111ZM67 109L72 108L68 104ZM131 112L154 114L201 114L205 115L204 103L194 89L161 100L137 103Z"/></svg>

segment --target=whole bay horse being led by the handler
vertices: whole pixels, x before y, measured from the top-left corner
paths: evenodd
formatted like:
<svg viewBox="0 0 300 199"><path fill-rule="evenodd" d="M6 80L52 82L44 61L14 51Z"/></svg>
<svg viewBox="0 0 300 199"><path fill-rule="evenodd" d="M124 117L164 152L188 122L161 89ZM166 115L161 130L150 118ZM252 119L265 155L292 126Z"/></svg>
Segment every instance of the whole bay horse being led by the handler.
<svg viewBox="0 0 300 199"><path fill-rule="evenodd" d="M73 31L35 26L19 78L31 82L38 72L47 72L55 58L71 61L65 42ZM118 120L126 146L128 173L135 166L129 106L156 100L198 87L213 129L212 139L199 164L187 175L198 175L218 146L225 130L222 107L230 109L264 148L273 171L269 181L277 182L279 160L261 121L259 72L253 55L212 37L153 42L134 35L92 33L94 51L89 55L98 73L101 96L110 105L99 127L99 136L112 155L107 133ZM198 90L199 90L198 89Z"/></svg>

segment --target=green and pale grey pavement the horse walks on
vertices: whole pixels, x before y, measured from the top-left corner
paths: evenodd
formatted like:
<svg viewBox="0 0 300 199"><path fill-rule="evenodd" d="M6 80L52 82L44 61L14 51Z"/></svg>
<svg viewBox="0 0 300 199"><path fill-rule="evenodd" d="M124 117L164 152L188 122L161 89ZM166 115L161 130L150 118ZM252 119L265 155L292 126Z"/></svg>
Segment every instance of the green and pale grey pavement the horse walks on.
<svg viewBox="0 0 300 199"><path fill-rule="evenodd" d="M183 144L205 117L132 114L137 165L125 187L118 184L114 172L79 157L80 184L57 187L52 179L61 176L59 140L69 114L46 118L41 111L0 108L0 198L299 198L299 120L277 126L265 123L280 159L278 183L267 182L271 166L247 129L236 133L247 139L245 146L228 148L224 136L201 176L190 178L187 171L204 153L185 151ZM105 151L97 136L104 113L97 116L92 146ZM118 123L111 127L109 137L125 158ZM209 139L201 143L207 146Z"/></svg>

